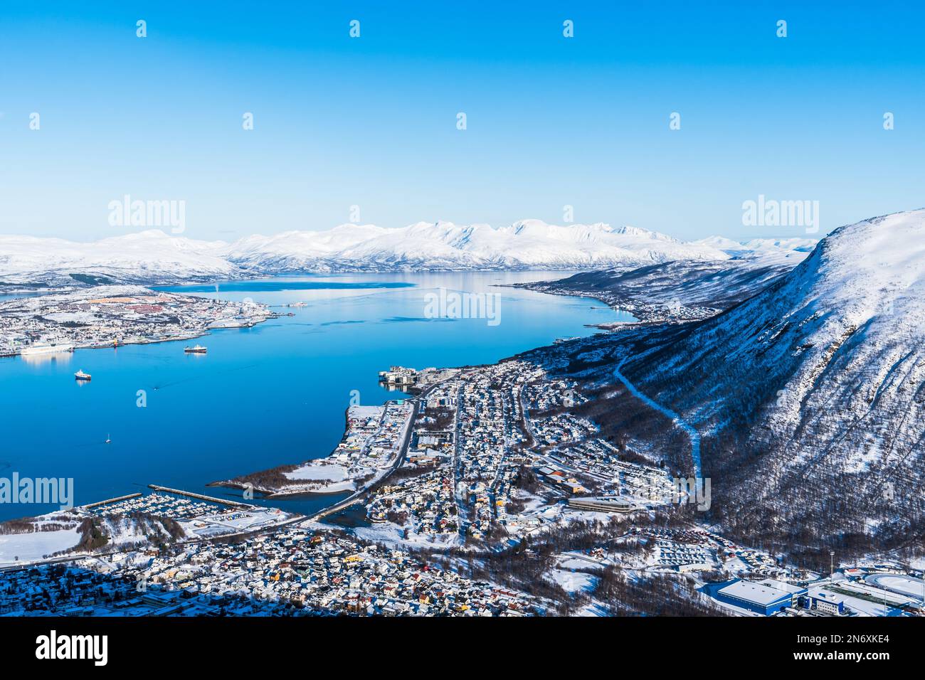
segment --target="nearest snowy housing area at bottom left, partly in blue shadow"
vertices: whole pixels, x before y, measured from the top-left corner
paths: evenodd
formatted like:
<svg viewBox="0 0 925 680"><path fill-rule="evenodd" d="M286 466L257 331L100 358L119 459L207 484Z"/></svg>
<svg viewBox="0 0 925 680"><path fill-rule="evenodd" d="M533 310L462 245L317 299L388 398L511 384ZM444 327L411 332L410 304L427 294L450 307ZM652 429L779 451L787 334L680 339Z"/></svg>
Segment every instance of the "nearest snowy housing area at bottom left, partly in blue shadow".
<svg viewBox="0 0 925 680"><path fill-rule="evenodd" d="M422 562L405 550L342 532L306 528L303 517L161 491L75 509L79 517L135 527L156 518L173 540L134 531L89 554L0 571L0 615L521 616L535 599ZM278 515L278 516L274 516ZM256 516L256 520L254 520ZM212 527L213 531L203 532ZM234 540L220 541L224 527ZM41 584L41 585L40 585Z"/></svg>

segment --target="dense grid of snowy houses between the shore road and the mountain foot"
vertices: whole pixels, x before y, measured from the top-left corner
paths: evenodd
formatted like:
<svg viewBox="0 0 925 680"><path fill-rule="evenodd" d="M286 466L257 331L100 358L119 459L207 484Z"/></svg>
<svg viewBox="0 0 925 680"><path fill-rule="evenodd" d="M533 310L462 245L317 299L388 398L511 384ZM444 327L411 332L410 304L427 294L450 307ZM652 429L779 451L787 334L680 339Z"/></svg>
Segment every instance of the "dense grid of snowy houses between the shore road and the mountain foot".
<svg viewBox="0 0 925 680"><path fill-rule="evenodd" d="M621 460L594 425L569 414L583 399L575 386L536 365L503 362L438 380L434 369L393 366L385 376L423 391L401 480L371 495L367 516L401 525L408 539L510 543L585 519L586 508L678 500L664 470Z"/></svg>

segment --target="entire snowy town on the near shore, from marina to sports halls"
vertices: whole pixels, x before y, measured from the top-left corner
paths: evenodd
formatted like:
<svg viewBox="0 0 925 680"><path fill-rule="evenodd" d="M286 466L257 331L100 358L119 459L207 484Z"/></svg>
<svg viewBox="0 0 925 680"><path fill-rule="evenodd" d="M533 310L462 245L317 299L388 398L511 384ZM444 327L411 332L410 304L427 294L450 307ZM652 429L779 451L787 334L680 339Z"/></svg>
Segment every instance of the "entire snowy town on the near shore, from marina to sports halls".
<svg viewBox="0 0 925 680"><path fill-rule="evenodd" d="M242 501L152 485L0 525L0 613L922 613L919 567L812 571L723 537L709 494L606 436L540 365L380 378L410 398L349 407L326 458L222 483ZM254 490L350 495L304 516Z"/></svg>

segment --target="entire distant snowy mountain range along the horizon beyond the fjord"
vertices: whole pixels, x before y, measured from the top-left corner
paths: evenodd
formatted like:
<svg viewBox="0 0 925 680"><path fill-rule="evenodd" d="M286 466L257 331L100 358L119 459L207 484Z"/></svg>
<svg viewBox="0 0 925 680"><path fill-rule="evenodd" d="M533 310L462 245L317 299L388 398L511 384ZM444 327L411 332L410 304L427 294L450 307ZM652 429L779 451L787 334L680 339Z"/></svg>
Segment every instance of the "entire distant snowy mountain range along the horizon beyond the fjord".
<svg viewBox="0 0 925 680"><path fill-rule="evenodd" d="M480 269L635 268L672 261L728 260L742 253L786 253L804 240L719 237L685 242L648 229L540 220L458 226L418 222L388 229L344 224L326 231L254 235L233 243L194 241L159 230L77 243L0 236L0 283L73 285L167 283L273 274Z"/></svg>

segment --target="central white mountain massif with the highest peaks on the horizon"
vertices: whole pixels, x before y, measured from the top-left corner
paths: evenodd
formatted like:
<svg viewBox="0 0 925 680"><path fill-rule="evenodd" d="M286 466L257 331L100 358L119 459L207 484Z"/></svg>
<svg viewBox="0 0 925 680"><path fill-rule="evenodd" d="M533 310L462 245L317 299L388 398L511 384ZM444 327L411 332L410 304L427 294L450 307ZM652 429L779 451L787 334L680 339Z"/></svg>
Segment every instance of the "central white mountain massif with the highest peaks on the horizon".
<svg viewBox="0 0 925 680"><path fill-rule="evenodd" d="M530 219L501 229L418 222L400 229L340 225L329 231L291 231L233 243L227 257L243 267L282 273L629 267L729 255L647 229L599 223L560 227Z"/></svg>

